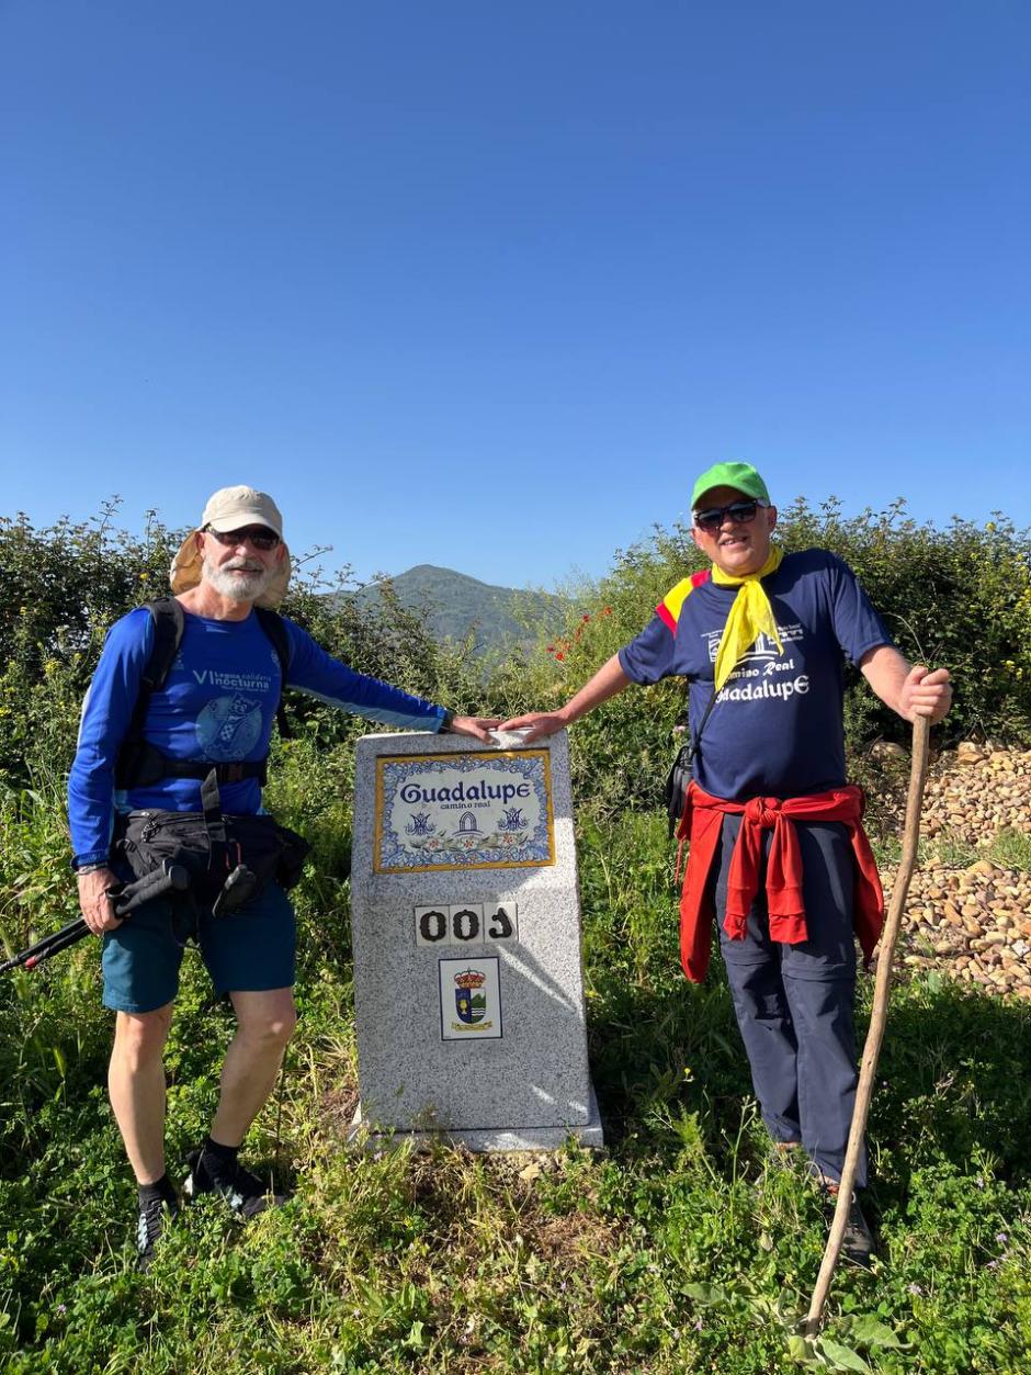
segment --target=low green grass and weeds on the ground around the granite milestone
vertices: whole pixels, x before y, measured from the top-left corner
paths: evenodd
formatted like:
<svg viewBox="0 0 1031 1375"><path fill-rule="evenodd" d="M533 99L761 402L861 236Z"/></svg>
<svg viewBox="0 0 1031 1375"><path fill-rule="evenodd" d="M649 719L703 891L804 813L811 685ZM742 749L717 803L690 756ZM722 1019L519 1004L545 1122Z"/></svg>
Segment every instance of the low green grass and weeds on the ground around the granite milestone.
<svg viewBox="0 0 1031 1375"><path fill-rule="evenodd" d="M301 814L304 796L287 770L279 806L318 859L298 890L301 1027L249 1145L296 1184L280 1211L245 1229L205 1199L137 1275L96 947L0 983L5 1372L1031 1371L1027 1004L939 975L896 990L870 1126L881 1260L843 1265L825 1336L804 1348L819 1200L770 1150L722 971L702 989L680 978L663 821L580 828L608 1150L362 1155L342 1144L356 1101L348 817L335 802ZM8 796L3 839L14 946L70 914L55 796ZM188 958L172 1162L206 1129L230 1031Z"/></svg>

